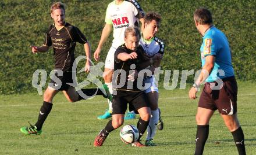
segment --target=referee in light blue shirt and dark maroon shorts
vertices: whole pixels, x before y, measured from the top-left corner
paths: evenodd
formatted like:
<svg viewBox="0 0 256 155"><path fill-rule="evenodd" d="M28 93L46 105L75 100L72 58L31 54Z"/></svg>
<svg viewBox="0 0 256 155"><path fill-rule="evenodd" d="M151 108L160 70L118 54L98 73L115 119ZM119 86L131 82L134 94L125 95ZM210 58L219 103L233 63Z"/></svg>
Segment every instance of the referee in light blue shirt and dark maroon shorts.
<svg viewBox="0 0 256 155"><path fill-rule="evenodd" d="M195 153L202 154L209 135L209 120L218 110L226 127L233 135L239 154L246 154L243 130L237 118L237 83L234 77L229 42L218 28L212 24L209 10L200 8L194 12L195 27L202 35L200 76L189 91L190 99L204 81L204 89L198 102L197 135L195 138Z"/></svg>

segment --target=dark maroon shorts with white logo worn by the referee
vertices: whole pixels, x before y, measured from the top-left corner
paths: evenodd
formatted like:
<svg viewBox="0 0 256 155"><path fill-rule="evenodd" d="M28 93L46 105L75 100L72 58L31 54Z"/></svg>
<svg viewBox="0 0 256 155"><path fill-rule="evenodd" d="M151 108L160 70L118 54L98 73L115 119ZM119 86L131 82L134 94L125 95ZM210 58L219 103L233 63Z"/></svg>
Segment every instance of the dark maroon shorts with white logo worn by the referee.
<svg viewBox="0 0 256 155"><path fill-rule="evenodd" d="M220 90L212 90L211 84L216 82L205 83L204 90L200 96L198 107L219 110L223 115L234 115L237 112L237 83L236 79L227 77L222 79L223 87Z"/></svg>

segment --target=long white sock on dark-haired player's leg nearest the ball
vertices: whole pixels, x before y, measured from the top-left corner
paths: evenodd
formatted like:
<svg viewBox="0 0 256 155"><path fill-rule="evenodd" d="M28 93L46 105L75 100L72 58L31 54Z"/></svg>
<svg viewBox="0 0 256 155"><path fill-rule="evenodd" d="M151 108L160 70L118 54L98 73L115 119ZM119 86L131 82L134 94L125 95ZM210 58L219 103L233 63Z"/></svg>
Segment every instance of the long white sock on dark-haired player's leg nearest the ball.
<svg viewBox="0 0 256 155"><path fill-rule="evenodd" d="M157 110L151 110L151 116L150 116L150 123L148 123L148 128L147 128L147 138L148 139L153 139L155 136L155 132L157 131L157 123L159 120L159 111Z"/></svg>

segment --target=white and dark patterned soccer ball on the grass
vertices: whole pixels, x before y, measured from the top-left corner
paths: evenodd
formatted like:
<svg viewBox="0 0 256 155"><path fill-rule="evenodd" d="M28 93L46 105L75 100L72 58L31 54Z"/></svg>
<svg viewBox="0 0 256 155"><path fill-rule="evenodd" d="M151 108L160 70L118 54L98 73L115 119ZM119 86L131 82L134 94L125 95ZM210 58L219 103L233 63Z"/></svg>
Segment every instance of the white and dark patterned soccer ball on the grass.
<svg viewBox="0 0 256 155"><path fill-rule="evenodd" d="M123 126L120 130L121 140L125 143L133 143L138 140L138 129L133 125Z"/></svg>

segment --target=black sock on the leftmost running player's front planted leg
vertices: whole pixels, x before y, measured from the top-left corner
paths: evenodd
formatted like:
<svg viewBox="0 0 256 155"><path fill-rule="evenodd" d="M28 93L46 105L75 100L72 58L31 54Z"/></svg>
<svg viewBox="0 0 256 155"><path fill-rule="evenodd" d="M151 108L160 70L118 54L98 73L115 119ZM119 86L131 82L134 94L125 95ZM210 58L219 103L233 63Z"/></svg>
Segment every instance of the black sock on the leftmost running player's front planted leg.
<svg viewBox="0 0 256 155"><path fill-rule="evenodd" d="M42 124L44 124L44 121L47 119L48 114L51 112L52 109L52 103L44 101L42 103L37 123L35 123L35 126L37 127L37 130L41 130Z"/></svg>

